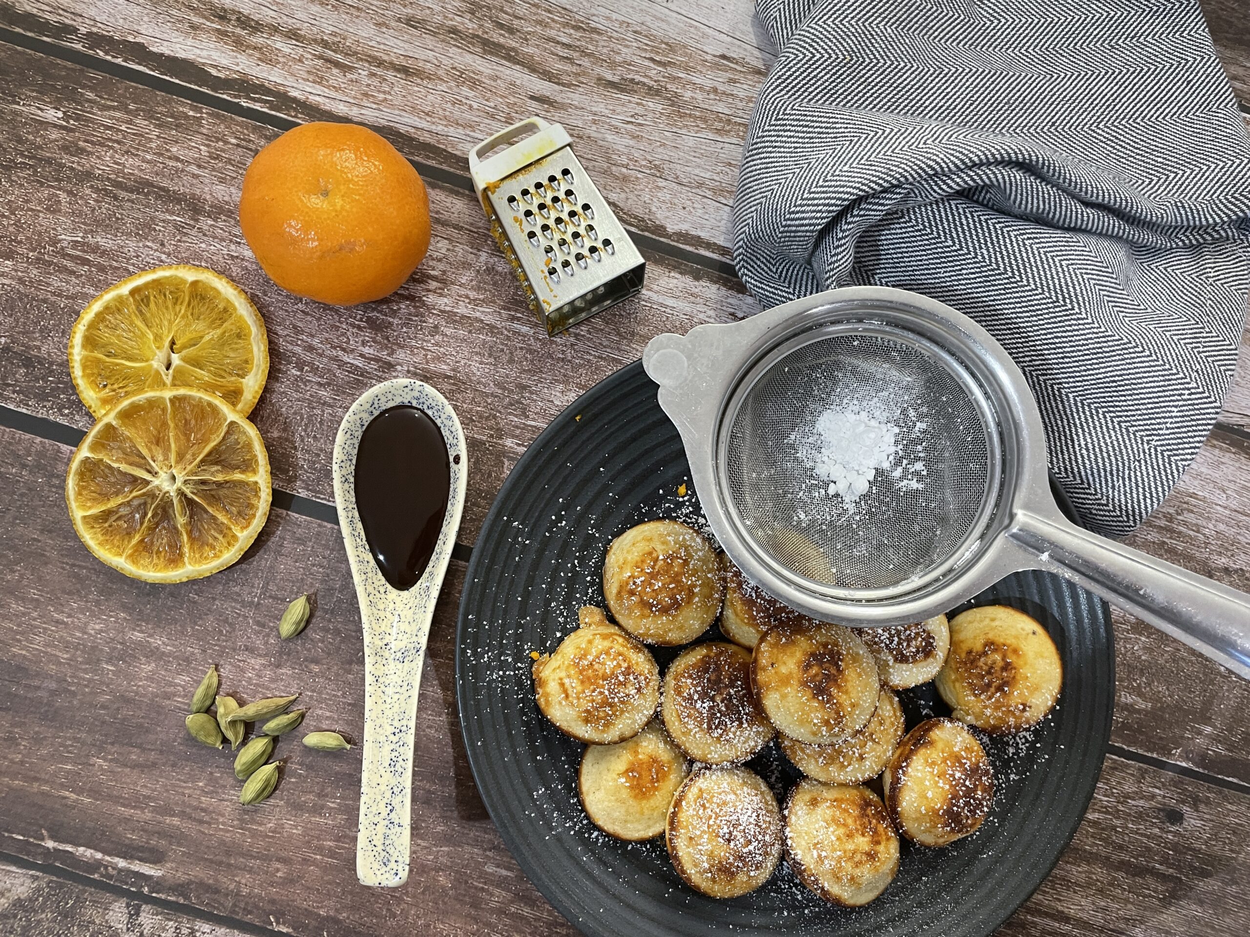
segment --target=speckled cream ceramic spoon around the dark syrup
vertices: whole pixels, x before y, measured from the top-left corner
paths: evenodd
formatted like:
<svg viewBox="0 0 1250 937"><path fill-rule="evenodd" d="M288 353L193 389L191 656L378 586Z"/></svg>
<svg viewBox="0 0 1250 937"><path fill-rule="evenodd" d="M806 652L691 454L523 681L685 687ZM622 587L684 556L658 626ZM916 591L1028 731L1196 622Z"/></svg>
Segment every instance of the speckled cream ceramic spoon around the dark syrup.
<svg viewBox="0 0 1250 937"><path fill-rule="evenodd" d="M416 585L406 590L392 587L375 562L355 493L360 437L375 416L396 406L416 407L434 421L446 444L450 467L448 506L434 553ZM342 419L334 444L334 497L365 635L365 737L356 837L356 876L364 885L396 886L408 880L418 688L434 603L460 527L468 467L455 411L441 394L420 381L386 381L366 391Z"/></svg>

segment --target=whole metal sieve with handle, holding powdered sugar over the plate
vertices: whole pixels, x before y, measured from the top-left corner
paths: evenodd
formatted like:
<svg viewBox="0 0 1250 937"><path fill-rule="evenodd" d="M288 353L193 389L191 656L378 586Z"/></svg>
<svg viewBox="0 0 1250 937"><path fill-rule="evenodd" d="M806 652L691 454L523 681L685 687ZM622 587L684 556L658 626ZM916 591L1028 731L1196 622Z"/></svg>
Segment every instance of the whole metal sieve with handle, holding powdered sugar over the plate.
<svg viewBox="0 0 1250 937"><path fill-rule="evenodd" d="M901 625L1044 568L1250 678L1250 596L1065 520L1024 375L949 306L831 290L656 336L642 365L720 546L792 608Z"/></svg>

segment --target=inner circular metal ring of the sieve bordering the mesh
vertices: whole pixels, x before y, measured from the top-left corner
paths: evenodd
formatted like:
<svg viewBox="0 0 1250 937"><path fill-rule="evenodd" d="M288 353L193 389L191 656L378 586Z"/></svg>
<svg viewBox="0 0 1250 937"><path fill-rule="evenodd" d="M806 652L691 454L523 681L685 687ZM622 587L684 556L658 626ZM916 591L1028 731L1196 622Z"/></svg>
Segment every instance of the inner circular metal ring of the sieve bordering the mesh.
<svg viewBox="0 0 1250 937"><path fill-rule="evenodd" d="M915 327L898 321L889 321L889 314L882 309L850 307L840 311L830 310L822 322L809 324L796 334L782 336L775 344L762 347L748 360L740 376L729 390L725 404L716 421L714 473L718 500L725 508L726 520L739 532L746 546L759 562L774 565L785 572L792 585L802 591L826 600L841 602L879 602L899 596L924 591L929 585L942 580L952 570L962 566L980 545L988 527L992 523L1000 503L1004 487L1004 445L1000 432L1001 420L998 410L972 371L944 344L935 341ZM742 414L742 407L754 399L761 382L766 381L775 369L785 366L796 354L814 345L845 337L880 339L894 345L919 352L931 361L945 375L954 379L956 386L966 395L970 411L975 414L985 435L985 485L980 502L971 518L961 525L962 536L946 543L928 568L900 576L899 581L881 586L839 586L794 568L768 543L756 535L756 525L744 516L739 498L734 495L734 481L730 477L734 447L734 429Z"/></svg>

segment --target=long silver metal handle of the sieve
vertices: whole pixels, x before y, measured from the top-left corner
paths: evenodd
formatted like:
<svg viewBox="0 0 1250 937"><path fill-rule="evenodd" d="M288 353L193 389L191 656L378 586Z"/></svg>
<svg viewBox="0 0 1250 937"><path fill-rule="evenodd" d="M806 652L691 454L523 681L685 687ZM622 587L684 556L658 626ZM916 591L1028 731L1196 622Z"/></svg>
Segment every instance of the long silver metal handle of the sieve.
<svg viewBox="0 0 1250 937"><path fill-rule="evenodd" d="M1008 535L1051 570L1250 680L1250 595L1034 513Z"/></svg>

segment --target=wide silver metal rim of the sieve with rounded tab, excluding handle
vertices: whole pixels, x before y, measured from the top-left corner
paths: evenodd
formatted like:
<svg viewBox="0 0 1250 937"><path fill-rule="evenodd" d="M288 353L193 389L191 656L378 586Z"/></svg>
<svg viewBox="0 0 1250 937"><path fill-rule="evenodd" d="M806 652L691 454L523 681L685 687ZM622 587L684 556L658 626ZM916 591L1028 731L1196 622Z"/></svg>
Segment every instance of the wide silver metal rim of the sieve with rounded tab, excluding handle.
<svg viewBox="0 0 1250 937"><path fill-rule="evenodd" d="M838 590L795 575L760 548L722 481L720 440L726 417L740 405L740 387L758 380L756 369L792 349L791 342L801 346L836 327L899 330L936 350L944 362L956 365L952 375L960 386L975 387L979 406L995 416L990 437L999 471L992 496L984 498L958 550L922 575L885 588ZM748 578L811 617L852 627L932 617L1029 565L1004 536L1022 505L1060 517L1050 497L1041 417L1024 375L981 326L931 297L881 286L829 290L736 322L656 336L642 365L660 385L660 406L681 434L691 480L721 548Z"/></svg>

